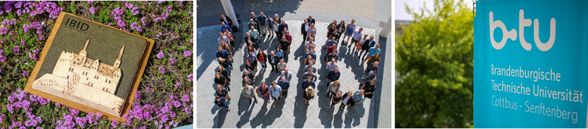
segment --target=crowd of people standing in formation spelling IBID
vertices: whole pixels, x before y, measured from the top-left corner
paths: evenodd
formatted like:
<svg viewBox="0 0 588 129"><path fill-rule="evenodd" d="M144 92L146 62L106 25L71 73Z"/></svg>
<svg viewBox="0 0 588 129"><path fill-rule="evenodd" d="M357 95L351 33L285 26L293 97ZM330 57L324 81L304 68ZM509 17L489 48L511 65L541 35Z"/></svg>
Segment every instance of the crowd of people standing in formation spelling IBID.
<svg viewBox="0 0 588 129"><path fill-rule="evenodd" d="M242 72L243 81L242 95L249 100L249 104L253 102L259 103L257 97L263 100L263 104L282 103L283 97L288 94L290 89L290 80L292 80L295 73L288 69L288 56L290 55L290 45L292 44L292 35L289 32L288 23L285 19L279 18L278 14L263 15L263 12L259 12L259 15L255 15L255 12L251 12L249 23L246 26L246 33L244 43L246 45L245 53L245 69ZM218 70L215 73L214 82L216 83L216 99L215 104L219 107L226 108L230 111L229 104L231 97L229 96L230 91L230 76L232 76L233 70L233 53L235 53L235 38L233 32L239 31L236 26L233 25L232 21L225 15L220 14L220 32L219 32L219 46L216 57L219 62ZM345 24L345 21L340 21L339 24L335 20L328 25L328 32L326 37L328 40L325 44L316 43L315 28L316 20L309 15L308 18L303 19L300 27L300 35L295 38L303 39L304 47L304 68L300 70L302 72L302 78L300 80L300 89L302 94L298 94L297 97L304 100L305 105L310 104L310 100L315 99L316 96L316 81L323 77L327 87L325 93L331 100L329 107L335 107L339 104L340 108L353 107L361 104L365 101L365 98L372 99L373 93L376 92L376 74L378 72L378 65L380 62L380 45L374 40L374 36L369 36L363 32L363 28L359 28L355 24L355 19ZM228 23L227 23L228 22ZM272 31L273 30L273 31ZM341 36L343 37L341 38ZM268 52L264 52L260 46L265 45L260 42L260 38L273 38L278 40L279 45L275 49L268 49ZM345 39L347 38L347 39ZM349 39L351 42L348 45ZM325 60L323 62L324 67L316 67L316 61L318 60L317 54L315 53L316 47L319 49L326 49ZM342 84L339 79L341 72L339 71L338 60L339 60L339 47L348 47L350 55L357 56L360 61L360 65L365 63L366 67L363 70L364 75L360 77L363 81L358 87L358 90L352 91L341 91L340 87L353 87L348 84ZM353 47L353 49L351 49ZM363 55L362 55L363 54ZM321 57L321 56L319 56ZM355 57L354 57L355 58ZM270 73L279 73L278 80L268 81L269 86L266 82L260 82L259 86L255 86L255 74L260 70L265 71L269 63L271 67ZM324 73L318 73L319 69L323 69ZM320 74L320 75L319 75ZM348 73L349 74L349 73ZM292 84L296 86L298 84ZM354 88L355 89L355 88ZM257 97L255 96L257 94ZM271 99L271 100L270 100Z"/></svg>

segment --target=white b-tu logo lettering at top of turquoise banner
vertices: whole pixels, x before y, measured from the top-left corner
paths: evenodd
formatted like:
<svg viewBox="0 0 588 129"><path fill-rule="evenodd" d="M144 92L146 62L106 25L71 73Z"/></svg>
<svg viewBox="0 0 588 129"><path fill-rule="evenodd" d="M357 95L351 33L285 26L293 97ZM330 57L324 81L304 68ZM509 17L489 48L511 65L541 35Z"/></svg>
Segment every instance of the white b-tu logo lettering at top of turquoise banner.
<svg viewBox="0 0 588 129"><path fill-rule="evenodd" d="M535 19L533 21L533 37L535 40L535 45L541 51L547 51L551 49L553 43L555 42L555 18L552 18L550 21L550 29L549 29L549 40L546 43L542 43L539 40L539 20ZM524 40L524 27L531 26L531 19L524 19L524 11L520 9L519 11L519 38L520 38L520 45L523 46L525 50L531 50L531 43L527 43ZM500 28L502 29L502 40L500 42L496 42L494 40L494 29ZM494 21L494 13L490 11L490 42L492 43L492 47L496 50L502 49L502 47L506 44L506 39L516 40L517 33L516 29L511 29L510 31L506 30L506 25L500 20Z"/></svg>

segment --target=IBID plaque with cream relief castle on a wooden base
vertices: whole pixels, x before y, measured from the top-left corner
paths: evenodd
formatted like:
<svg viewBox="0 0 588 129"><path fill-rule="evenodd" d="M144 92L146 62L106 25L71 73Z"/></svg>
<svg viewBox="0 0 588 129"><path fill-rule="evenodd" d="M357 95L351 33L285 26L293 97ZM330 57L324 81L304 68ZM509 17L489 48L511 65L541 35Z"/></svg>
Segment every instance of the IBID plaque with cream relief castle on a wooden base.
<svg viewBox="0 0 588 129"><path fill-rule="evenodd" d="M123 120L153 40L61 12L25 91Z"/></svg>

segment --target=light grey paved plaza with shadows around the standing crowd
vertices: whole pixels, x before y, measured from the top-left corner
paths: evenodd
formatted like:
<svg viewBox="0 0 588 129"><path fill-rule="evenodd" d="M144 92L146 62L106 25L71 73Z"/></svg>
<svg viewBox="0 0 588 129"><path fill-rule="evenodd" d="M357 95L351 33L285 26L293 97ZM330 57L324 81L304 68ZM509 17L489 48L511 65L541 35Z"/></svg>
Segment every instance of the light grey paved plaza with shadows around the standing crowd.
<svg viewBox="0 0 588 129"><path fill-rule="evenodd" d="M238 14L240 32L235 36L235 49L233 52L233 70L230 76L232 91L232 103L230 111L219 108L213 101L216 96L216 84L214 82L216 67L219 66L215 52L219 45L220 13L226 14L219 0L196 0L196 128L392 128L392 69L393 69L393 38L390 33L387 38L381 38L380 22L386 22L392 15L392 0L348 1L348 0L316 0L316 1L257 1L257 0L233 0L235 13ZM293 72L290 80L290 89L287 96L282 97L282 103L249 104L249 100L242 96L241 74L245 70L246 45L243 38L243 29L249 23L250 12L264 12L265 15L278 14L285 19L292 35L291 53L288 55L288 69ZM239 16L240 15L240 16ZM300 35L300 26L303 19L312 15L316 19L316 55L318 63L315 99L310 100L309 106L305 106L302 100L303 89L302 69L305 59L303 39ZM377 73L376 91L372 99L366 98L363 103L355 107L339 108L339 104L329 107L330 99L327 94L328 81L325 76L325 45L327 26L333 20L349 23L356 19L356 30L363 28L363 33L375 36L376 43L380 44L380 65ZM342 35L343 37L343 35ZM350 41L350 40L349 40ZM278 40L269 35L260 39L260 49L268 53L279 45ZM339 43L340 45L340 43ZM363 76L366 65L360 63L352 49L340 46L338 48L340 59L337 65L341 72L340 90L356 91ZM362 65L363 64L363 65ZM271 66L268 63L266 71L258 66L255 73L255 87L261 82L277 82L278 73L270 73Z"/></svg>

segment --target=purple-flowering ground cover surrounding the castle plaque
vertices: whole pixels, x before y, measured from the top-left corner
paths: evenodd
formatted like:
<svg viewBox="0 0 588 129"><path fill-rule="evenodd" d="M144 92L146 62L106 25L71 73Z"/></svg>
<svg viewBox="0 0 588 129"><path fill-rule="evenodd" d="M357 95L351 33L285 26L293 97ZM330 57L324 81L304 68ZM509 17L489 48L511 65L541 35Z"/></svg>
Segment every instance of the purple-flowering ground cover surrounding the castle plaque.
<svg viewBox="0 0 588 129"><path fill-rule="evenodd" d="M193 123L193 1L0 2L0 129L173 128ZM155 40L126 121L24 89L61 11Z"/></svg>

